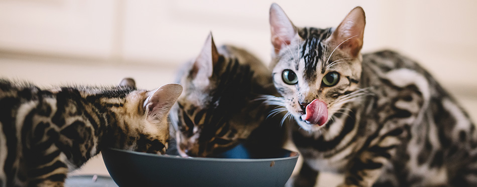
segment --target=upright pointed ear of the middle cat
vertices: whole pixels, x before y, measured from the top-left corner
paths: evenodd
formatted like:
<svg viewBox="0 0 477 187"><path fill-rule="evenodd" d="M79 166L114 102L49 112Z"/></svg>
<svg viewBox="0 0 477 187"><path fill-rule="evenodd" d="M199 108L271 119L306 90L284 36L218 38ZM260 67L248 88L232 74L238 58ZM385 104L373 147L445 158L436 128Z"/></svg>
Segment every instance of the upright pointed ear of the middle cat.
<svg viewBox="0 0 477 187"><path fill-rule="evenodd" d="M192 76L195 77L196 80L208 81L212 76L213 67L218 61L218 56L219 54L215 47L212 33L210 33L207 40L205 40L202 51L197 59L195 59L192 67Z"/></svg>

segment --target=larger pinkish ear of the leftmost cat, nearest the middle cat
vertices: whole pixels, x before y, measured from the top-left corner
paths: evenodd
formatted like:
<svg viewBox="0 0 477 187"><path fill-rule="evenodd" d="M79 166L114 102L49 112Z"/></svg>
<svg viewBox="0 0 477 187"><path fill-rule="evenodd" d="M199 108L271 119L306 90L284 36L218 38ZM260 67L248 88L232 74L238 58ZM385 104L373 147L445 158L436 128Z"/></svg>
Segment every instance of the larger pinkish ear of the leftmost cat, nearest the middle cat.
<svg viewBox="0 0 477 187"><path fill-rule="evenodd" d="M172 105L182 93L182 86L179 84L166 84L152 91L151 95L144 101L147 120L150 122L160 122L169 113Z"/></svg>

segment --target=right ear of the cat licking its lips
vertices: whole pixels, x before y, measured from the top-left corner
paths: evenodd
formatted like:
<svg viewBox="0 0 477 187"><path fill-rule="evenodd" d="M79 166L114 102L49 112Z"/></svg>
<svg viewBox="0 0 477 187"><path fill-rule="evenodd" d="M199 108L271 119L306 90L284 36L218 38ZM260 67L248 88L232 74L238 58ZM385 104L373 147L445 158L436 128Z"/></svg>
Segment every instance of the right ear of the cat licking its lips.
<svg viewBox="0 0 477 187"><path fill-rule="evenodd" d="M365 11L361 7L354 8L331 35L331 45L356 57L363 47L365 25Z"/></svg>

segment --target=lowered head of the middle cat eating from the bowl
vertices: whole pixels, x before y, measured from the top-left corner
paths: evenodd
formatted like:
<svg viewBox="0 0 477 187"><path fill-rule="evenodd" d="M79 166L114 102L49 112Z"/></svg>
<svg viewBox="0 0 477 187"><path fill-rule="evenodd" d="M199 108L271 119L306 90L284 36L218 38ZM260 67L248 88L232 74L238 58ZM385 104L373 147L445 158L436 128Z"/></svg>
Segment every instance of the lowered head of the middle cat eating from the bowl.
<svg viewBox="0 0 477 187"><path fill-rule="evenodd" d="M176 127L177 149L183 156L210 157L239 143L231 123L246 102L250 67L219 54L210 34L199 54L187 64L180 80L184 92L171 112Z"/></svg>

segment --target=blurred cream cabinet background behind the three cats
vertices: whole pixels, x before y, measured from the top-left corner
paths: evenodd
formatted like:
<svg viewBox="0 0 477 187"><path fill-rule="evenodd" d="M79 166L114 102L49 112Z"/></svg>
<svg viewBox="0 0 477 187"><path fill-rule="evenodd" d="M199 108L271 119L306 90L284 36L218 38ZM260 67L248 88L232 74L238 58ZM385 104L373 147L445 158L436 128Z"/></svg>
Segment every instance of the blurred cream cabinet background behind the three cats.
<svg viewBox="0 0 477 187"><path fill-rule="evenodd" d="M336 27L362 6L364 53L393 49L417 60L477 119L477 1L275 2L298 27ZM133 77L138 87L154 89L174 80L210 31L217 45L247 48L268 64L271 3L0 0L0 77L40 86ZM74 172L84 173L107 175L101 157Z"/></svg>

